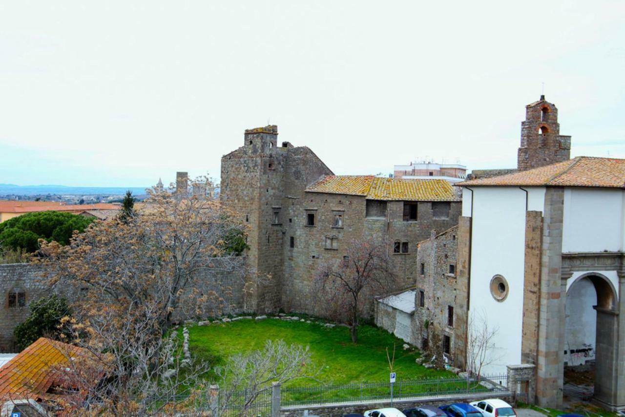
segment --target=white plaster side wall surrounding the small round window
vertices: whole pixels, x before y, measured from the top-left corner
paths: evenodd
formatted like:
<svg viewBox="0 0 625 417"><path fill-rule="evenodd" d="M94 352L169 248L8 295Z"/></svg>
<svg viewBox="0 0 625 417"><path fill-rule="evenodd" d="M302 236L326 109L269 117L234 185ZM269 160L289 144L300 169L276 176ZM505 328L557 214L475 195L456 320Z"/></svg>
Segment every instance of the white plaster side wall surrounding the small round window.
<svg viewBox="0 0 625 417"><path fill-rule="evenodd" d="M539 193L532 192L534 201ZM486 316L489 327L497 329L493 363L483 369L485 373L505 373L507 364L521 363L525 208L526 193L518 187L474 188L469 316ZM503 302L490 292L495 274L509 284Z"/></svg>

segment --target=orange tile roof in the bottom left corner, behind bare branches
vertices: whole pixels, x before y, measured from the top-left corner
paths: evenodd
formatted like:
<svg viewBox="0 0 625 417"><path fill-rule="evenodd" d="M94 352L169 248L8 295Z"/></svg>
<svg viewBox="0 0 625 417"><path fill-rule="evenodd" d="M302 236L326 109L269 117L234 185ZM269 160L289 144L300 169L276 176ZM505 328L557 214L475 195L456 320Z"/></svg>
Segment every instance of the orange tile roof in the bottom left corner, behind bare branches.
<svg viewBox="0 0 625 417"><path fill-rule="evenodd" d="M71 344L37 339L0 368L0 401L54 398L46 391L63 381L59 370L72 367L70 358L87 354Z"/></svg>

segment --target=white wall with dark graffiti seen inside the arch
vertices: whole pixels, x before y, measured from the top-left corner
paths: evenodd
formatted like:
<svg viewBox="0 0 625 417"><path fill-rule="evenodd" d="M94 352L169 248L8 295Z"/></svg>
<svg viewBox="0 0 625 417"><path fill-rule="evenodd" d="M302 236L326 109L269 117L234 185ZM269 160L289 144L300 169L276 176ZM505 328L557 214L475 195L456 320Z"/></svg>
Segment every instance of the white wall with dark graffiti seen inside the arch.
<svg viewBox="0 0 625 417"><path fill-rule="evenodd" d="M567 288L564 361L569 365L584 364L594 359L597 312L592 306L596 304L597 292L589 278L581 278Z"/></svg>

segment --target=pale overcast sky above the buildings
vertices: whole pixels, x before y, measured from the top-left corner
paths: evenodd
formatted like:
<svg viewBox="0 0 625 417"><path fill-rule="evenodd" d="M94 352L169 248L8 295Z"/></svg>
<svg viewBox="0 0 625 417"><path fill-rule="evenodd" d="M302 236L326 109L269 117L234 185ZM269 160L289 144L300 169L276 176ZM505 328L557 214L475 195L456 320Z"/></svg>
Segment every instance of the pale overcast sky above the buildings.
<svg viewBox="0 0 625 417"><path fill-rule="evenodd" d="M336 174L514 168L544 83L571 156L625 158L623 1L2 1L0 183L219 177L277 124Z"/></svg>

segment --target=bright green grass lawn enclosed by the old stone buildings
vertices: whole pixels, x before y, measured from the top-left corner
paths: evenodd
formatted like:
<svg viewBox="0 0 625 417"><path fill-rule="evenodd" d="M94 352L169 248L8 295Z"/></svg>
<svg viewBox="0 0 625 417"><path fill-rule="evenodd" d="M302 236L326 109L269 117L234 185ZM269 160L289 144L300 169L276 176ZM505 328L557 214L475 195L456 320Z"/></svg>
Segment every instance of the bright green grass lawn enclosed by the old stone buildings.
<svg viewBox="0 0 625 417"><path fill-rule="evenodd" d="M319 323L302 323L268 318L262 321L239 320L232 323L194 326L189 329L191 354L210 361L223 363L235 353L262 349L267 339L283 339L287 344L309 346L312 361L322 366L317 379L322 384L385 383L389 378L386 348L392 353L396 346L394 371L397 380L423 377L451 376L446 371L426 369L414 360L420 353L416 349L404 351L404 342L384 329L373 326L359 328L359 341L354 344L349 329L336 326L326 328ZM293 381L316 384L316 381Z"/></svg>

